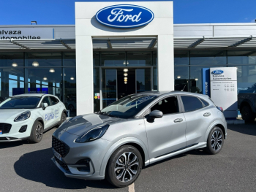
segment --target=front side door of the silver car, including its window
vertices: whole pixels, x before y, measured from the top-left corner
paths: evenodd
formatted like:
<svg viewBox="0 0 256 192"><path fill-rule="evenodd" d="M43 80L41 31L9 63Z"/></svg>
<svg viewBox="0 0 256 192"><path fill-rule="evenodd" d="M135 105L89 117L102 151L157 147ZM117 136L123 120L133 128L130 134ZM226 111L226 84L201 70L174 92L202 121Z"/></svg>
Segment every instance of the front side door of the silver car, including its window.
<svg viewBox="0 0 256 192"><path fill-rule="evenodd" d="M162 118L145 116L149 158L157 158L186 146L186 121L177 96L169 96L154 104L148 111L163 112Z"/></svg>

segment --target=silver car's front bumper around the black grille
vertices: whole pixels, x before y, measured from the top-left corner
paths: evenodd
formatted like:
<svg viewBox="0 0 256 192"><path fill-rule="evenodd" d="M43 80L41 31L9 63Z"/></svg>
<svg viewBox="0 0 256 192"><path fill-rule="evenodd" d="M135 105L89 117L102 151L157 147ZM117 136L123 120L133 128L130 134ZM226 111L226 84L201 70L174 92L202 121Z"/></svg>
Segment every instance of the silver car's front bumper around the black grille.
<svg viewBox="0 0 256 192"><path fill-rule="evenodd" d="M104 175L100 175L102 169L102 161L110 146L113 145L105 139L97 139L93 142L77 143L77 135L69 134L58 128L53 137L64 142L69 147L69 152L60 161L58 158L51 158L54 164L61 169L67 177L73 177L86 180L103 180ZM80 171L83 165L78 161L89 159L89 171Z"/></svg>

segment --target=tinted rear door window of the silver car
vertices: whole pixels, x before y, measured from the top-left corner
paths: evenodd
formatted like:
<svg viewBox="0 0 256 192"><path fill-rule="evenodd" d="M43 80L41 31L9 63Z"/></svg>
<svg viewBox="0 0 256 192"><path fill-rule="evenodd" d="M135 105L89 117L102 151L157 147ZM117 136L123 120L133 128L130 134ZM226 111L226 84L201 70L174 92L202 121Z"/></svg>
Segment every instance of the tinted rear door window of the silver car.
<svg viewBox="0 0 256 192"><path fill-rule="evenodd" d="M195 96L181 96L185 112L195 111L203 108L203 103Z"/></svg>

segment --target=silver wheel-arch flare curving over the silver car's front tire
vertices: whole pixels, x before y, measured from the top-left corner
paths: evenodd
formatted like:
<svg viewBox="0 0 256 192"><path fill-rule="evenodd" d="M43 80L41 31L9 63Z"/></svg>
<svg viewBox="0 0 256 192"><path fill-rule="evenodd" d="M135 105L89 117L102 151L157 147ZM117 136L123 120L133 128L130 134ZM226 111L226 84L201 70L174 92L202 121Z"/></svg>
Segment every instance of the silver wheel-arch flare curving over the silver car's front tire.
<svg viewBox="0 0 256 192"><path fill-rule="evenodd" d="M107 153L105 154L105 156L102 160L102 164L101 164L100 170L99 170L99 175L102 175L102 176L105 175L105 170L106 170L106 166L108 164L108 160L109 160L110 156L113 154L113 152L116 149L118 149L118 147L120 147L121 145L125 145L127 143L135 143L137 145L140 145L140 147L143 149L144 155L145 155L145 166L147 166L149 164L148 148L146 147L146 145L138 138L126 137L126 138L120 139L117 142L113 143L113 145L108 149Z"/></svg>

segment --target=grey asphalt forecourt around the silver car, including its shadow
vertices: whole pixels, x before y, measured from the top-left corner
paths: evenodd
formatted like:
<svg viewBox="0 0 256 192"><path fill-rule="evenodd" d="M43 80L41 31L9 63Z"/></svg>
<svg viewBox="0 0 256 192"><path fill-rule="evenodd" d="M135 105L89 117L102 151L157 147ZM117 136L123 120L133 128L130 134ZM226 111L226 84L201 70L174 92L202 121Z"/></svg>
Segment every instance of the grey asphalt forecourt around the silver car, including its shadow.
<svg viewBox="0 0 256 192"><path fill-rule="evenodd" d="M0 143L0 191L256 191L256 121L228 125L219 154L192 150L168 158L143 168L129 188L65 177L50 160L55 130L38 144Z"/></svg>

